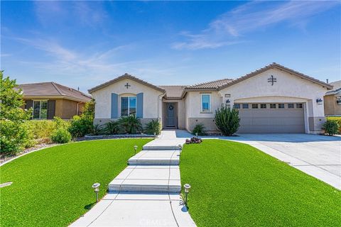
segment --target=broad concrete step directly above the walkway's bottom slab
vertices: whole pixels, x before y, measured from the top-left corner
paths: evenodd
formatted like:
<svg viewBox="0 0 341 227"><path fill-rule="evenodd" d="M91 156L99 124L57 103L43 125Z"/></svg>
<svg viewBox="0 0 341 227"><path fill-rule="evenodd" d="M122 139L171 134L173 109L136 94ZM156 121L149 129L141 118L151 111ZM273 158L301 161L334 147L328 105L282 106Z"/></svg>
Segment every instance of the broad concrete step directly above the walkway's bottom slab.
<svg viewBox="0 0 341 227"><path fill-rule="evenodd" d="M109 192L179 193L180 189L180 170L174 165L129 166L109 183Z"/></svg>

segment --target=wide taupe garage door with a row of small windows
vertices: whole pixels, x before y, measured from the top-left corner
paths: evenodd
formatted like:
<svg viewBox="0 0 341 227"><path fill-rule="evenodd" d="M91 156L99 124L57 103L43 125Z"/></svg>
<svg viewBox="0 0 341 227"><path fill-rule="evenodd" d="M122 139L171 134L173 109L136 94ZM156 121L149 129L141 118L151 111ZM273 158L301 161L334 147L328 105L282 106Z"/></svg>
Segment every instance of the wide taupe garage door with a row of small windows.
<svg viewBox="0 0 341 227"><path fill-rule="evenodd" d="M235 104L237 133L305 133L303 104Z"/></svg>

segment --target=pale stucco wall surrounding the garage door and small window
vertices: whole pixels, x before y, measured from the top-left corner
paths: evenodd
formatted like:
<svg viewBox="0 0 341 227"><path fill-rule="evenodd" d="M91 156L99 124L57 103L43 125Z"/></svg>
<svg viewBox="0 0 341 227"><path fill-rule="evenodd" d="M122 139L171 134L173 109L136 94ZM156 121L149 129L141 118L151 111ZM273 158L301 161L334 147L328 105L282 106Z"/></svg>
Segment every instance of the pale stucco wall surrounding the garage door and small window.
<svg viewBox="0 0 341 227"><path fill-rule="evenodd" d="M268 82L271 75L274 75L277 80L273 86ZM319 84L310 82L307 79L301 79L281 70L270 69L222 89L219 92L212 92L212 112L209 114L200 113L200 92L188 92L186 97L188 100L185 101L186 118L188 118L186 120L186 128L188 130L193 128L192 124L196 119L203 121L199 118L214 118L215 109L225 104L227 99L229 99L231 106L234 102L301 102L305 111L305 132L319 133L325 114L323 104L317 104L316 99L323 99L325 92L327 92L327 89ZM225 97L225 94L230 94L230 96ZM188 109L189 106L190 108ZM212 123L207 125L207 127L212 128Z"/></svg>

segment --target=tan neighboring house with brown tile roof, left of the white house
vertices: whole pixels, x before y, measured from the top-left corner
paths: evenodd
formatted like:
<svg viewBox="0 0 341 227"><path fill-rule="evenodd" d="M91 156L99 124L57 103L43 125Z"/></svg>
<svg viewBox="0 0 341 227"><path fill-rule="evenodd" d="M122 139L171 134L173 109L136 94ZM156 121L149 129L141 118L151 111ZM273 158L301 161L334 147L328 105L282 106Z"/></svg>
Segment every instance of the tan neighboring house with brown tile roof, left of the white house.
<svg viewBox="0 0 341 227"><path fill-rule="evenodd" d="M33 119L71 119L82 114L86 102L92 98L82 92L55 82L19 84L23 91L24 109L33 108Z"/></svg>

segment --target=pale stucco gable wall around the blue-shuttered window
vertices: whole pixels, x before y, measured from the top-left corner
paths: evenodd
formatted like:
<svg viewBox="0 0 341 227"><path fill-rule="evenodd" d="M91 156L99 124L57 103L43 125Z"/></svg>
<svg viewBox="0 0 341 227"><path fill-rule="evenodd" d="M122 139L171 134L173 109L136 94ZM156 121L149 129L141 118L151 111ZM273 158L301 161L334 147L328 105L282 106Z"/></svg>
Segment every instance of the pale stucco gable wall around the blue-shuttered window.
<svg viewBox="0 0 341 227"><path fill-rule="evenodd" d="M128 89L124 85L128 83L131 85ZM110 119L111 118L111 98L112 93L116 93L121 96L128 94L136 95L144 93L144 118L162 118L162 96L163 93L148 87L144 84L136 82L131 79L121 79L114 84L110 84L107 87L103 87L95 92L92 92L92 96L96 101L94 118L96 119ZM120 110L120 99L119 99ZM120 113L120 111L119 111ZM97 121L97 120L96 120Z"/></svg>

